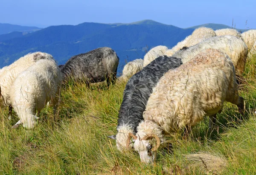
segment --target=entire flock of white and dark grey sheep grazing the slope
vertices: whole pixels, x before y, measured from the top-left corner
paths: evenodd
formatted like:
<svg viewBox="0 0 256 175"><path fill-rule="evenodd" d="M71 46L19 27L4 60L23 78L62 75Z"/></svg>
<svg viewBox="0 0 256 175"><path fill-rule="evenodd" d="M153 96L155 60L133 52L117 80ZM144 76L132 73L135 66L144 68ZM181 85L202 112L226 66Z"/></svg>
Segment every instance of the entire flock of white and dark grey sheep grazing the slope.
<svg viewBox="0 0 256 175"><path fill-rule="evenodd" d="M212 131L224 101L244 115L238 94L248 54L254 54L256 30L198 28L172 49L157 46L144 59L127 63L120 80L128 80L119 110L116 139L119 151L134 149L145 163L153 163L165 135L191 127L209 116ZM71 57L64 65L47 53L35 52L0 69L0 105L9 106L19 121L33 128L37 113L51 102L58 106L61 86L73 82L116 81L119 57L108 47ZM239 78L238 78L239 77Z"/></svg>

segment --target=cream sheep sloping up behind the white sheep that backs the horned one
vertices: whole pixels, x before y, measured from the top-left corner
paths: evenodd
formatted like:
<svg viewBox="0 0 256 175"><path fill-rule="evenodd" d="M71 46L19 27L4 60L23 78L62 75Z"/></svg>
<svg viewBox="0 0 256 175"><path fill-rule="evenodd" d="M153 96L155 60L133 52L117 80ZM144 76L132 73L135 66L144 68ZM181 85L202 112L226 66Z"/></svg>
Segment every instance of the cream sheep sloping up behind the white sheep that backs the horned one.
<svg viewBox="0 0 256 175"><path fill-rule="evenodd" d="M211 37L215 37L216 34L214 30L207 28L207 27L200 27L198 29L195 29L194 32L187 36L183 41L180 41L177 43L176 46L174 46L172 49L169 49L165 52L165 55L172 56L176 51L182 49L183 47L190 47L197 43L202 42L203 40L206 40Z"/></svg>

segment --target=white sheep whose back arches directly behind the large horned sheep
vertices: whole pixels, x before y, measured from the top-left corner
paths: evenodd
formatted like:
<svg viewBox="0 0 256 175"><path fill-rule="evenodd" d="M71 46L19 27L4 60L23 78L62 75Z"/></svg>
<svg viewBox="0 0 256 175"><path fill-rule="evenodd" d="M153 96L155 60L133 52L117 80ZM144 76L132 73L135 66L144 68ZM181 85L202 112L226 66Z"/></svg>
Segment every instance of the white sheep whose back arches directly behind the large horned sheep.
<svg viewBox="0 0 256 175"><path fill-rule="evenodd" d="M236 74L242 77L247 58L247 46L243 40L231 35L209 38L195 46L179 50L173 56L181 58L182 63L186 63L204 49L209 48L219 49L221 52L227 54L235 66Z"/></svg>

